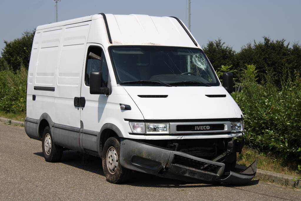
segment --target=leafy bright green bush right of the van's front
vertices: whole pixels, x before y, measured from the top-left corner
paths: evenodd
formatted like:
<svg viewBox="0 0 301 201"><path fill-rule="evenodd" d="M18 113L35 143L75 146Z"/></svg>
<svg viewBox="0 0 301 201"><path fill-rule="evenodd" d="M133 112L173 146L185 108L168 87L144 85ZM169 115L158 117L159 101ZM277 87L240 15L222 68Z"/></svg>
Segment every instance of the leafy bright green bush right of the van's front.
<svg viewBox="0 0 301 201"><path fill-rule="evenodd" d="M240 77L243 90L233 93L244 113L247 141L262 151L301 159L301 79L287 67L277 79L268 72L258 84L256 66L246 65ZM280 83L275 83L280 80ZM281 87L279 88L279 84Z"/></svg>

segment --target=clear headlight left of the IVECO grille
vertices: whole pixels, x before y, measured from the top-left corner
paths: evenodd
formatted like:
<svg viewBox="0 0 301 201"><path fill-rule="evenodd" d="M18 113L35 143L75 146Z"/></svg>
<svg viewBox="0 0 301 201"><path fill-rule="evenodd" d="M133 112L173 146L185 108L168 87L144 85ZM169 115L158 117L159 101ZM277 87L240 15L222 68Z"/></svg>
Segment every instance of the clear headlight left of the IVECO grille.
<svg viewBox="0 0 301 201"><path fill-rule="evenodd" d="M133 133L169 134L169 123L129 122Z"/></svg>

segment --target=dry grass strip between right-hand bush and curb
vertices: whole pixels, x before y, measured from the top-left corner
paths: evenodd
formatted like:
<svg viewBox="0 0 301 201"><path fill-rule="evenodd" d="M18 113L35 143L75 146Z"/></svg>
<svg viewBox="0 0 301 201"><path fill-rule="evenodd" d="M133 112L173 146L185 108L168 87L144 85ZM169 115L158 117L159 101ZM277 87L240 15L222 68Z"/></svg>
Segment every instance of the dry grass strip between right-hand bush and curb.
<svg viewBox="0 0 301 201"><path fill-rule="evenodd" d="M291 162L272 153L263 153L244 147L241 154L237 157L237 164L250 165L255 159L258 159L257 168L271 172L278 172L286 175L300 177L301 173L295 172L298 169L296 162Z"/></svg>

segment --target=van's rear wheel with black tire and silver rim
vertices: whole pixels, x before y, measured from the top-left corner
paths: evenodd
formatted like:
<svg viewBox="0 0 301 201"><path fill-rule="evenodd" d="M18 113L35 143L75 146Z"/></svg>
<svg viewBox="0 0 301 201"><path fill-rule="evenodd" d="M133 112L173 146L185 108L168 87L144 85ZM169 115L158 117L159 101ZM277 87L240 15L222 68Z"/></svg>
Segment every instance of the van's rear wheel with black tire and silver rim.
<svg viewBox="0 0 301 201"><path fill-rule="evenodd" d="M47 161L47 162L60 161L62 158L62 155L63 155L63 147L60 147L53 143L49 126L46 126L46 128L43 131L42 136L43 136L42 150L43 150L45 161ZM45 142L45 138L47 138L46 142ZM45 146L45 143L46 143L46 146ZM49 144L51 146L49 146ZM50 147L50 149L48 147Z"/></svg>

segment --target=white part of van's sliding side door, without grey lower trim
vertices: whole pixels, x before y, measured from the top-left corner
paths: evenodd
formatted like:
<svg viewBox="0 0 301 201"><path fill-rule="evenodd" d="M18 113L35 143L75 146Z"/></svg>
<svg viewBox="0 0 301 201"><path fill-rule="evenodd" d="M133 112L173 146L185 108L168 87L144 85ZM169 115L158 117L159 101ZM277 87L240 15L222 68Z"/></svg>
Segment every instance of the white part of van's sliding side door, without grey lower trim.
<svg viewBox="0 0 301 201"><path fill-rule="evenodd" d="M80 128L80 110L74 97L80 97L82 68L90 22L64 26L55 91L55 123Z"/></svg>

